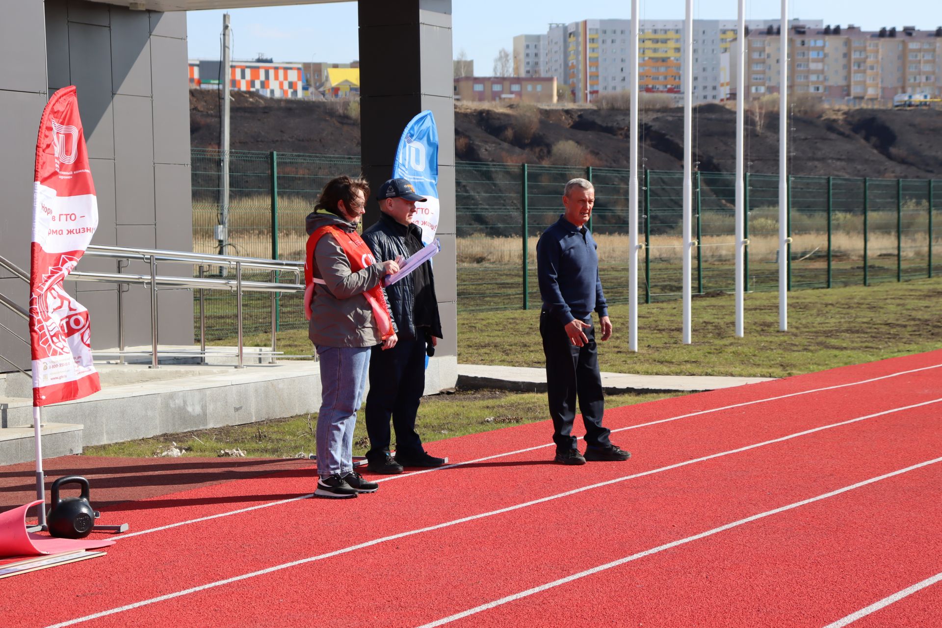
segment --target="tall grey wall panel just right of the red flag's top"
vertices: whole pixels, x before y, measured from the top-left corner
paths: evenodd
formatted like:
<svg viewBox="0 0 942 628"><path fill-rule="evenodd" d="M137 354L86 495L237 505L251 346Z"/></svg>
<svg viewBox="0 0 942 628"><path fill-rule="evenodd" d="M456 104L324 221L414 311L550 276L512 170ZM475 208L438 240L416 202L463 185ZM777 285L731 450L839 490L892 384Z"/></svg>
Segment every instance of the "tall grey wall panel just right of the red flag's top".
<svg viewBox="0 0 942 628"><path fill-rule="evenodd" d="M71 10L71 9L70 9ZM105 26L69 24L70 72L89 156L114 158L111 37Z"/></svg>

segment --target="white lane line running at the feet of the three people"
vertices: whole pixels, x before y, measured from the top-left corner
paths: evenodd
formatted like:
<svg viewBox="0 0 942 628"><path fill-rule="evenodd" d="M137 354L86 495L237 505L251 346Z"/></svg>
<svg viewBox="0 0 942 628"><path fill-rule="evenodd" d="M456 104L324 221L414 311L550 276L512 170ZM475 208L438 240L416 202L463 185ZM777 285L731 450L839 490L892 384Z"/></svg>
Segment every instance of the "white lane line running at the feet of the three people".
<svg viewBox="0 0 942 628"><path fill-rule="evenodd" d="M615 433L615 432L622 432L622 431L625 431L625 430L627 430L627 429L638 429L639 427L657 426L657 425L659 425L659 424L661 424L661 423L669 423L669 422L671 422L671 421L677 421L677 420L679 420L679 419L687 419L687 418L690 418L691 416L699 416L699 415L702 415L702 414L709 414L709 413L711 413L711 412L720 412L720 411L724 411L724 410L732 410L732 409L734 409L734 408L742 408L742 407L744 407L744 406L752 406L752 405L757 404L757 403L765 403L766 401L777 401L777 400L779 400L779 399L787 399L788 397L793 397L793 396L811 395L812 393L820 393L820 392L822 392L822 391L831 391L831 390L836 390L836 389L838 389L838 388L846 388L846 387L848 387L848 386L858 386L858 385L860 385L860 384L868 384L868 383L871 383L871 382L873 382L873 381L879 381L879 380L881 380L881 379L897 378L897 377L900 377L901 375L909 375L909 374L911 374L911 373L918 373L919 371L926 371L926 370L930 370L930 369L933 369L933 368L939 368L939 367L942 367L942 364L933 364L933 365L931 365L931 366L921 366L921 367L919 367L919 368L913 368L913 369L909 369L909 370L907 370L907 371L899 371L899 372L897 372L897 373L890 373L889 375L882 375L882 376L880 376L880 377L878 377L878 378L861 379L861 380L859 380L859 381L851 381L851 382L848 382L848 383L845 383L845 384L836 384L836 385L834 385L834 386L825 386L825 387L823 387L823 388L814 388L814 389L811 389L811 390L801 391L801 392L798 392L798 393L789 393L788 395L778 395L778 396L773 396L773 397L766 397L766 398L764 398L764 399L755 399L755 400L753 400L753 401L744 401L744 402L742 402L742 403L733 404L733 405L731 405L731 406L723 406L723 407L721 407L721 408L710 408L710 409L708 409L708 410L700 410L700 411L695 411L695 412L688 412L687 414L678 414L677 416L671 416L671 417L668 417L668 418L666 418L666 419L658 419L658 421L650 421L650 422L648 422L648 423L641 423L641 424L638 424L638 425L635 425L635 426L618 427L618 428L616 428L616 429L612 429L611 431L612 431L612 433ZM581 436L578 437L578 438L579 438L580 440L582 439ZM554 443L539 444L539 445L536 445L536 446L534 446L534 447L527 447L526 449L516 449L516 450L514 450L514 451L508 451L508 452L504 452L504 453L502 453L502 454L494 454L493 456L485 456L484 458L473 459L473 460L465 460L465 461L463 461L463 462L455 462L455 463L453 463L453 464L446 464L446 465L444 465L444 466L435 467L435 468L433 468L433 469L423 469L422 471L414 471L414 472L411 472L411 473L408 473L408 474L390 475L390 476L387 476L387 477L381 477L381 478L378 478L376 481L377 481L377 482L389 482L389 481L391 481L391 480L404 479L404 478L406 478L406 477L413 477L414 475L430 474L430 473L433 473L433 472L436 472L436 471L445 471L445 470L447 470L447 469L454 469L455 467L461 467L461 466L468 465L468 464L476 464L476 463L478 463L478 462L485 462L485 461L487 461L487 460L493 460L493 459L497 459L497 458L505 458L505 457L507 457L507 456L515 456L515 455L517 455L517 454L525 454L525 453L530 452L530 451L536 451L537 449L545 449L546 447L553 447L553 446L555 446ZM181 525L188 525L188 524L190 524L190 523L200 523L200 522L204 522L204 521L209 521L209 520L211 520L211 519L219 519L219 517L228 517L229 515L237 515L237 514L241 514L241 513L243 513L243 512L250 512L250 511L252 511L252 510L258 510L259 508L267 508L267 507L272 507L272 506L281 506L281 505L283 505L283 504L290 504L291 502L297 502L297 501L299 501L299 500L301 500L301 499L307 499L308 497L312 497L313 495L314 495L314 493L308 493L308 494L306 494L306 495L300 495L299 497L292 497L292 498L290 498L290 499L283 499L283 500L279 500L279 501L277 501L277 502L269 502L268 504L261 504L261 505L259 505L259 506L252 506L252 507L248 507L248 508L239 508L238 510L228 510L228 511L226 511L226 512L220 512L219 514L209 515L209 516L206 516L206 517L199 517L199 518L197 518L197 519L190 519L190 520L183 521L183 522L178 522L178 523L168 523L167 525L160 525L160 526L158 526L158 527L148 528L148 529L146 529L146 530L139 530L138 532L132 532L132 533L129 533L129 534L124 534L124 535L118 536L118 537L112 537L112 539L117 540L117 539L127 539L127 538L130 538L130 537L138 537L138 536L140 536L140 535L142 535L142 534L150 534L150 533L152 533L152 532L159 532L159 531L161 531L161 530L168 530L168 529L170 529L170 528L179 527L179 526L181 526Z"/></svg>

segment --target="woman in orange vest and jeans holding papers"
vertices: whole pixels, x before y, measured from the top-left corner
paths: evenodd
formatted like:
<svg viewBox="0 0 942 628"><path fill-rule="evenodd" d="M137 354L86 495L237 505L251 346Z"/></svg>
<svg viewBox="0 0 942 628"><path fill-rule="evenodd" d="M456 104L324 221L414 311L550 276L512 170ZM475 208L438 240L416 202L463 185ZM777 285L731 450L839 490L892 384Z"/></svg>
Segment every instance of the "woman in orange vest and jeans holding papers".
<svg viewBox="0 0 942 628"><path fill-rule="evenodd" d="M399 267L394 261L374 260L357 233L368 196L365 179L336 177L324 186L307 217L304 308L310 319L308 337L320 361L319 497L356 497L379 488L353 471L353 427L363 402L370 348L396 346L382 278Z"/></svg>

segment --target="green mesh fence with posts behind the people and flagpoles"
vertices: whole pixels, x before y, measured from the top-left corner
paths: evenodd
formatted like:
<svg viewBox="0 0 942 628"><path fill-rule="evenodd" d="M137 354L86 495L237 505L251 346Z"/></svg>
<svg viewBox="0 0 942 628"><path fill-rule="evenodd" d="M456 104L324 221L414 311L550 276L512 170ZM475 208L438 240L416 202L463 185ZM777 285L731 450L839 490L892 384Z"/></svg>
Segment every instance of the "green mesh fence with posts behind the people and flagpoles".
<svg viewBox="0 0 942 628"><path fill-rule="evenodd" d="M330 178L360 172L357 157L231 151L229 229L219 242L221 153L193 149L193 247L249 257L302 260L304 217ZM462 312L540 307L536 244L562 213L563 185L593 182L590 227L609 302L628 295L628 172L528 164L459 162L455 168L458 308ZM639 298L680 297L683 173L639 177ZM746 174L745 286L776 290L779 278L779 178ZM732 292L736 283L736 177L695 172L690 236L694 294ZM793 176L788 179L789 289L902 281L942 272L942 182ZM219 268L204 268L207 274ZM269 273L246 279L271 281ZM279 281L293 282L293 275ZM207 338L235 333L235 297L208 295ZM247 294L247 334L268 332L268 295ZM306 326L298 296L276 302L279 329Z"/></svg>

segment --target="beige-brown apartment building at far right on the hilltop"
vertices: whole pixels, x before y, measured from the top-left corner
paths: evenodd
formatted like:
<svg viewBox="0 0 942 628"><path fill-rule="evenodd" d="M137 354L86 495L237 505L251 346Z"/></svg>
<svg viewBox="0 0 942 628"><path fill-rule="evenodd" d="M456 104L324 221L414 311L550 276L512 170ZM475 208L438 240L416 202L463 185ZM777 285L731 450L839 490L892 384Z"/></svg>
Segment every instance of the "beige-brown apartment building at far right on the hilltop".
<svg viewBox="0 0 942 628"><path fill-rule="evenodd" d="M749 98L781 91L781 37L765 29L746 38ZM733 50L739 44L734 43ZM735 75L735 68L734 68ZM788 89L825 104L888 104L899 93L942 96L942 28L863 31L858 26L788 31ZM734 76L735 81L735 76Z"/></svg>

